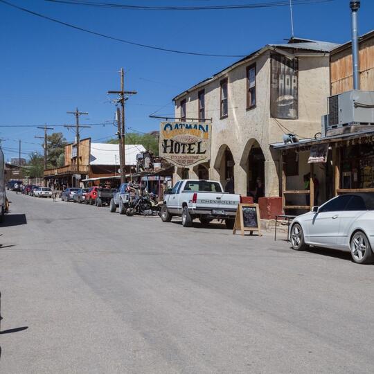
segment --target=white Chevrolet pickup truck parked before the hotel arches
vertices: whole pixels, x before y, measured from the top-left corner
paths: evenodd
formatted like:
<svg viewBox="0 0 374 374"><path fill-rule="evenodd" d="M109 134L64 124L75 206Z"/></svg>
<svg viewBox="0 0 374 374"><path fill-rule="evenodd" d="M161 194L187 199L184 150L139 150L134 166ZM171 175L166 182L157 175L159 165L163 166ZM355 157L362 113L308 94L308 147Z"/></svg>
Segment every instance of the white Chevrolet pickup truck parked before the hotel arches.
<svg viewBox="0 0 374 374"><path fill-rule="evenodd" d="M192 226L195 218L203 226L221 219L232 229L239 203L240 195L225 193L218 181L183 179L165 194L160 215L163 222L170 222L174 215L180 216L184 227Z"/></svg>

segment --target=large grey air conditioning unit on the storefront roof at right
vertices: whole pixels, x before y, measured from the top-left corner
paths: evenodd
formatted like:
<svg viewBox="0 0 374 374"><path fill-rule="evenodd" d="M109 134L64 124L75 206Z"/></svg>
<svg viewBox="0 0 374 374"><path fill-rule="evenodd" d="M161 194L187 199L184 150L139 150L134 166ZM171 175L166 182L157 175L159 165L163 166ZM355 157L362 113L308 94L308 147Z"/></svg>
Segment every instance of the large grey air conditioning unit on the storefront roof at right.
<svg viewBox="0 0 374 374"><path fill-rule="evenodd" d="M328 98L327 129L374 125L374 91L347 91Z"/></svg>

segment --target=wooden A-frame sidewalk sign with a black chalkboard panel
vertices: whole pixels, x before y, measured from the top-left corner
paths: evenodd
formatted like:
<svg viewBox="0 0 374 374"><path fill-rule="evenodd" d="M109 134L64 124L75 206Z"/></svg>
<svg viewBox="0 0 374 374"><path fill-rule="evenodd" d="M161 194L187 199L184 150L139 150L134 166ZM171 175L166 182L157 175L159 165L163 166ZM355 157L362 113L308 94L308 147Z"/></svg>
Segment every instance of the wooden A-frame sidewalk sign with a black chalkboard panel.
<svg viewBox="0 0 374 374"><path fill-rule="evenodd" d="M258 204L239 204L236 211L235 224L233 234L240 230L242 235L244 231L249 231L252 235L254 231L261 234L260 213L258 211Z"/></svg>

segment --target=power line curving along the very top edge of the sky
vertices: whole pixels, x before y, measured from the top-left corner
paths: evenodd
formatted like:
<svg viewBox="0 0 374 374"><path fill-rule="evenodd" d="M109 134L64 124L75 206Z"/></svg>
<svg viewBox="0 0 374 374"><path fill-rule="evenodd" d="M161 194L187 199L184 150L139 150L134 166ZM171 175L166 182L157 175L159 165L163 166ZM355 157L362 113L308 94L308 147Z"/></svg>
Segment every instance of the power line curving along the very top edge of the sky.
<svg viewBox="0 0 374 374"><path fill-rule="evenodd" d="M102 3L100 1L89 0L45 0L49 3L63 3L75 6L89 6L94 8L109 8L123 10L238 10L238 9L258 9L258 8L275 8L279 6L289 6L290 0L283 1L259 1L252 4L236 4L222 6L143 6L143 5L126 5L121 3ZM294 0L294 5L305 5L314 3L328 3L335 0Z"/></svg>

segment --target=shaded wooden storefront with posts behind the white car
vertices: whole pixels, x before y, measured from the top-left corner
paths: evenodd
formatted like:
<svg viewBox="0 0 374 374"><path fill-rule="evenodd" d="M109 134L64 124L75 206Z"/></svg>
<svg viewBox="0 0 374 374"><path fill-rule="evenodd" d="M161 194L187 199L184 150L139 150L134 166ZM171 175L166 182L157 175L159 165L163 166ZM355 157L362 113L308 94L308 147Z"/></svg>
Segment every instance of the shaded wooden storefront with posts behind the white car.
<svg viewBox="0 0 374 374"><path fill-rule="evenodd" d="M317 147L326 154L317 155L319 162L310 163L316 157L311 150ZM279 151L280 190L286 213L302 213L341 193L374 192L374 130L276 143L271 148ZM290 175L294 166L297 171ZM295 187L290 188L290 184Z"/></svg>

